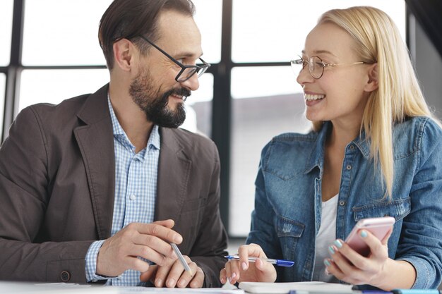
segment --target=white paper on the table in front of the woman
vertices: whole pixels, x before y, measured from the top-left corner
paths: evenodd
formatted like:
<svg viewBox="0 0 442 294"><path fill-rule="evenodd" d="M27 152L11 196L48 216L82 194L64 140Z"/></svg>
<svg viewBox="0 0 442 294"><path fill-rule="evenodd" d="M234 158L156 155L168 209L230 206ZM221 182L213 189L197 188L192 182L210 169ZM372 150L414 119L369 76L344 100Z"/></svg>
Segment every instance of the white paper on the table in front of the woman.
<svg viewBox="0 0 442 294"><path fill-rule="evenodd" d="M302 290L309 293L340 293L352 292L352 285L325 282L293 282L293 283L263 283L241 282L239 288L249 293L287 294L290 290Z"/></svg>

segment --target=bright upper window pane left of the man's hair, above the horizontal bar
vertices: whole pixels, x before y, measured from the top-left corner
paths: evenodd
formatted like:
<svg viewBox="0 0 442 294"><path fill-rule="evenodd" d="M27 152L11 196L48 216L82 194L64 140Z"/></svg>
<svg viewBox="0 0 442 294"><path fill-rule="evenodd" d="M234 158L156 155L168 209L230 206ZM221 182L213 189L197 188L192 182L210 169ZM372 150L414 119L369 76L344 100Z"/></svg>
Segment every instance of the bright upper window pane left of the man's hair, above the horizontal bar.
<svg viewBox="0 0 442 294"><path fill-rule="evenodd" d="M112 0L28 0L25 3L23 64L105 64L98 25Z"/></svg>

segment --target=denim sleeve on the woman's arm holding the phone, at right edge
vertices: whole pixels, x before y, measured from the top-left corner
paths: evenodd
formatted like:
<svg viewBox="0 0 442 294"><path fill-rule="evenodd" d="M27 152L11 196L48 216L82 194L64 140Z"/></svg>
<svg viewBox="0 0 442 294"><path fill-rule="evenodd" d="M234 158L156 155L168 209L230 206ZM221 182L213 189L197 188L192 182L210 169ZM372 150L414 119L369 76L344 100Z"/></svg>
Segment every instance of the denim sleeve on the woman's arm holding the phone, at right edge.
<svg viewBox="0 0 442 294"><path fill-rule="evenodd" d="M417 169L410 190L412 211L402 224L397 260L416 269L412 288L437 288L442 280L442 131L431 119L422 124Z"/></svg>

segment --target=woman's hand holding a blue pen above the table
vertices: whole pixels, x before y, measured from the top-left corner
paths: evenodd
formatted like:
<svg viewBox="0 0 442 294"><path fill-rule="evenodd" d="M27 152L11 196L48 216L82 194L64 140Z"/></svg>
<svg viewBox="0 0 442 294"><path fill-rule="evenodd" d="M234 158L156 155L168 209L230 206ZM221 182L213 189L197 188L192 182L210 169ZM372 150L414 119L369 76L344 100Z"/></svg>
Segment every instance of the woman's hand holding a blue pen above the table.
<svg viewBox="0 0 442 294"><path fill-rule="evenodd" d="M274 282L276 270L273 264L261 259L267 258L263 249L256 244L242 245L238 249L239 260L229 260L220 272L221 283L234 284L241 281ZM258 257L256 262L249 262L249 257Z"/></svg>

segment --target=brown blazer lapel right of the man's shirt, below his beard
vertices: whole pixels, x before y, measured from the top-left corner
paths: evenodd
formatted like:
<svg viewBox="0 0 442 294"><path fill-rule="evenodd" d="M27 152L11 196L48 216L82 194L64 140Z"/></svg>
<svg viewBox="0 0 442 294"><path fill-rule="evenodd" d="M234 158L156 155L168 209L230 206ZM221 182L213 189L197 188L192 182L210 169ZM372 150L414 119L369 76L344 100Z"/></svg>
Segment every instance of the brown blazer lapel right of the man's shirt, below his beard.
<svg viewBox="0 0 442 294"><path fill-rule="evenodd" d="M177 220L186 199L191 161L179 145L174 130L160 128L160 132L155 220Z"/></svg>

